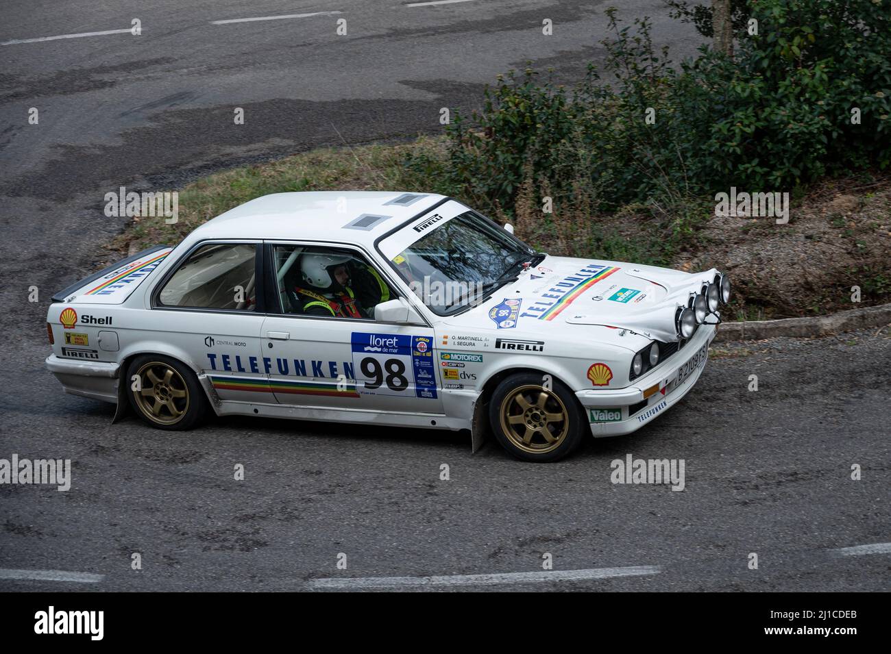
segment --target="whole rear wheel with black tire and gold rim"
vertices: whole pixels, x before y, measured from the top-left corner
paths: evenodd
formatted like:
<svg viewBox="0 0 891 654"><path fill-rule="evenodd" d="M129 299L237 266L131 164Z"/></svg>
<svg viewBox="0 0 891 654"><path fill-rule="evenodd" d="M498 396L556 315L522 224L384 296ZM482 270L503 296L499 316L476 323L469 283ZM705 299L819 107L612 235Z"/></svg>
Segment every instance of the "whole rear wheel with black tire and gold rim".
<svg viewBox="0 0 891 654"><path fill-rule="evenodd" d="M140 378L139 391L133 389L135 375ZM208 399L198 378L176 359L140 354L127 366L123 383L136 415L156 429L192 429L207 415Z"/></svg>

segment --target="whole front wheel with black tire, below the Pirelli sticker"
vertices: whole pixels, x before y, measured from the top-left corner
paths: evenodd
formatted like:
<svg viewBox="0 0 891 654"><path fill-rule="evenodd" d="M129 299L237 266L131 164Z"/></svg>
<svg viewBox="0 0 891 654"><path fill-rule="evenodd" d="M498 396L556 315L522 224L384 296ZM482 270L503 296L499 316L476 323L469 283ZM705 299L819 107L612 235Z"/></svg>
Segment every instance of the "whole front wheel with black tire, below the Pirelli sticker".
<svg viewBox="0 0 891 654"><path fill-rule="evenodd" d="M553 379L548 391L544 383L544 375L517 373L503 379L489 401L495 438L522 461L559 461L590 433L584 412L566 385Z"/></svg>

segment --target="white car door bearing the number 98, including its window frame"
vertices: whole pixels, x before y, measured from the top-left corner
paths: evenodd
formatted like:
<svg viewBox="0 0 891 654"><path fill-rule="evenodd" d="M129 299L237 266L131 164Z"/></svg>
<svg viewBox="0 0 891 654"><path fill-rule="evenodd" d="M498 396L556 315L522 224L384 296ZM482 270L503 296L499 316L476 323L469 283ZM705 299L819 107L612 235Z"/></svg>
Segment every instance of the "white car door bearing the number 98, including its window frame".
<svg viewBox="0 0 891 654"><path fill-rule="evenodd" d="M388 299L396 298L392 282L367 255L349 246L332 247L355 257L356 265L372 267L378 279L386 281ZM295 283L295 276L285 267L289 262L298 266L301 256L318 249L294 243L266 244L267 283L277 292L270 294L274 298L269 301L261 342L263 367L275 399L303 407L441 415L429 325L310 316L289 305L288 287ZM364 309L373 315L372 306Z"/></svg>

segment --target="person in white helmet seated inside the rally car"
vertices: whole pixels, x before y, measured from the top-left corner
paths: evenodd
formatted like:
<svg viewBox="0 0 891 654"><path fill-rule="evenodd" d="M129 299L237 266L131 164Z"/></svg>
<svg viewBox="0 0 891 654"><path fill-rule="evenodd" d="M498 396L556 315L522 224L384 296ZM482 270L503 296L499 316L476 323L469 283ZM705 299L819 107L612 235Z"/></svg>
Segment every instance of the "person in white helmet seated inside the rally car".
<svg viewBox="0 0 891 654"><path fill-rule="evenodd" d="M349 287L348 254L304 254L300 260L301 282L290 291L290 300L307 316L363 318L362 307Z"/></svg>

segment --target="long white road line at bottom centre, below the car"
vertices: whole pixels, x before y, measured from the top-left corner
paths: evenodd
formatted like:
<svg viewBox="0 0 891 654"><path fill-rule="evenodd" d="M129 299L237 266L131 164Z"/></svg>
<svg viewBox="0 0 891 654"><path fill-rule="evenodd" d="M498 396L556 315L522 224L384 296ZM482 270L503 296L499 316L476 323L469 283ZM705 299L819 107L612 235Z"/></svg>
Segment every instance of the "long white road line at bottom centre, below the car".
<svg viewBox="0 0 891 654"><path fill-rule="evenodd" d="M656 575L658 566L628 568L592 568L582 570L544 570L542 572L503 572L492 575L442 575L439 577L339 577L310 579L310 588L406 588L431 585L495 585L529 584L533 582L580 581L609 577L639 577Z"/></svg>

